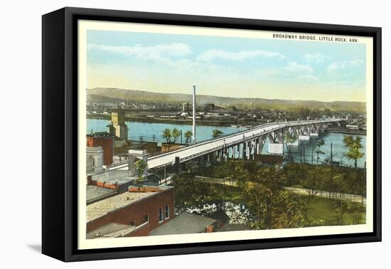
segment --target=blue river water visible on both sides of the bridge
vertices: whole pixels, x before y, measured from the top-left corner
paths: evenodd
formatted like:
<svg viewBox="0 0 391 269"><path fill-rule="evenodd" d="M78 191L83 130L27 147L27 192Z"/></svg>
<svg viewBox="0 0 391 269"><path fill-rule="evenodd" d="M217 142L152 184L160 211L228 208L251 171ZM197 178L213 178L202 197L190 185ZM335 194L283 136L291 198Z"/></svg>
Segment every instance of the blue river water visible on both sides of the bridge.
<svg viewBox="0 0 391 269"><path fill-rule="evenodd" d="M90 132L108 132L107 125L110 124L110 120L97 120L97 119L87 119L87 133ZM183 133L186 131L191 131L191 125L174 125L170 123L158 123L158 122L126 122L129 128L129 139L132 140L143 140L143 141L155 141L155 142L165 142L165 139L161 137L161 134L164 129L168 128L173 130L177 128L182 130ZM211 139L213 130L220 130L224 132L224 135L229 135L235 132L240 132L240 128L237 127L215 127L215 126L206 126L198 125L197 126L197 140L198 142ZM318 137L311 137L309 141L300 141L299 147L292 146L291 154L294 159L294 162L307 162L309 164L316 164L316 150L317 143L319 139L323 139L325 144L321 147L321 151L324 154L319 154L319 163L324 162L326 159L331 157L331 142L333 144L333 161L340 162L343 166L354 166L354 160L348 159L343 156L348 152L348 149L344 147L343 137L346 135L338 133L319 133ZM366 151L366 136L365 135L353 135L353 137L362 137L363 149L361 152ZM181 139L178 139L178 142ZM185 138L183 137L183 143ZM285 152L286 152L286 146ZM268 154L269 141L267 140L266 144L262 149L262 154ZM312 150L314 149L314 154ZM301 154L300 154L301 152ZM305 153L304 153L305 152ZM358 167L365 167L365 156L357 161Z"/></svg>

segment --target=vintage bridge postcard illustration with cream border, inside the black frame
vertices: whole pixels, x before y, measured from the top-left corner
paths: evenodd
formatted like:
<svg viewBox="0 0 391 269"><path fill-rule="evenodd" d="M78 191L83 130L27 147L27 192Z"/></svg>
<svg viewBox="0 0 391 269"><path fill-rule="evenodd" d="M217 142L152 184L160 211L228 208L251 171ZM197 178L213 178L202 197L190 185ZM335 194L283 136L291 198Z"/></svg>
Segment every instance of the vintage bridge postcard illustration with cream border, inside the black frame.
<svg viewBox="0 0 391 269"><path fill-rule="evenodd" d="M370 38L79 23L85 248L371 231Z"/></svg>

